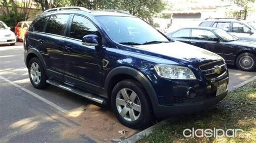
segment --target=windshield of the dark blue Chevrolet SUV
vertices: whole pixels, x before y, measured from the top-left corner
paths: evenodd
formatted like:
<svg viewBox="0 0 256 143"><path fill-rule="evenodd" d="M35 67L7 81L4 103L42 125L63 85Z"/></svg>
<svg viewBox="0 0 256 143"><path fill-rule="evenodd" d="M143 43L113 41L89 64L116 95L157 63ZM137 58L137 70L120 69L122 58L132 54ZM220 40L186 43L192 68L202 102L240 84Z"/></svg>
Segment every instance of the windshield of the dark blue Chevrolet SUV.
<svg viewBox="0 0 256 143"><path fill-rule="evenodd" d="M126 45L170 42L152 26L136 17L97 16L112 40Z"/></svg>

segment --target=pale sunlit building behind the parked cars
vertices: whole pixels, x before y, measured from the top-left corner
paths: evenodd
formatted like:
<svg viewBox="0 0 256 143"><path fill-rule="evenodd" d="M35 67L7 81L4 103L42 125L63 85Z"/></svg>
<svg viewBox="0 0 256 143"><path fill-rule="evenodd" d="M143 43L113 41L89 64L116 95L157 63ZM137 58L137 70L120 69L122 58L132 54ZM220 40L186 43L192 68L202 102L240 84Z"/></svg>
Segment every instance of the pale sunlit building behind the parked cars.
<svg viewBox="0 0 256 143"><path fill-rule="evenodd" d="M167 32L180 27L198 26L206 18L233 17L231 13L244 10L233 4L231 0L169 0L169 3L171 3L172 10L164 10L162 14L170 18L154 18L154 23L158 23L160 28L170 26Z"/></svg>

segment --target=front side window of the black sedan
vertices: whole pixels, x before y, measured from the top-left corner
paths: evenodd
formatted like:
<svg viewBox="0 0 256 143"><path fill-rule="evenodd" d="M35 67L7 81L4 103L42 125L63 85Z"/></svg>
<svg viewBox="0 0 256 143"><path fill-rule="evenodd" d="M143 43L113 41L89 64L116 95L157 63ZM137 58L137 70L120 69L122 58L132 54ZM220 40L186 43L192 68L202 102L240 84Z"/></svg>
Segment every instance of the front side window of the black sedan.
<svg viewBox="0 0 256 143"><path fill-rule="evenodd" d="M211 31L193 29L191 32L191 39L194 40L213 41L214 38L217 37Z"/></svg>

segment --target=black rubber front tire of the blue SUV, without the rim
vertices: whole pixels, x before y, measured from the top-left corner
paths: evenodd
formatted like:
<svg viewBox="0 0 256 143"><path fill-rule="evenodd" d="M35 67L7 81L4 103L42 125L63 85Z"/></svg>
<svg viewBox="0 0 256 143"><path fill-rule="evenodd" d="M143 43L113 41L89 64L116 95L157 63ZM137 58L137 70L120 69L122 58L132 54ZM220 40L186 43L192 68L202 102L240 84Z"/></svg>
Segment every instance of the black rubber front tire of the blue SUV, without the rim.
<svg viewBox="0 0 256 143"><path fill-rule="evenodd" d="M127 121L122 116L120 116L117 106L116 106L116 96L118 92L123 88L129 88L136 92L137 96L140 100L140 106L142 108L142 111L140 112L140 116L135 121ZM123 125L131 128L141 128L141 127L147 127L150 124L150 121L152 120L152 108L151 103L149 102L149 99L146 97L146 92L144 91L144 88L141 84L139 84L135 80L124 80L116 84L116 86L113 88L112 95L111 95L111 106L112 110L114 112L114 115L117 117L117 119L122 123Z"/></svg>

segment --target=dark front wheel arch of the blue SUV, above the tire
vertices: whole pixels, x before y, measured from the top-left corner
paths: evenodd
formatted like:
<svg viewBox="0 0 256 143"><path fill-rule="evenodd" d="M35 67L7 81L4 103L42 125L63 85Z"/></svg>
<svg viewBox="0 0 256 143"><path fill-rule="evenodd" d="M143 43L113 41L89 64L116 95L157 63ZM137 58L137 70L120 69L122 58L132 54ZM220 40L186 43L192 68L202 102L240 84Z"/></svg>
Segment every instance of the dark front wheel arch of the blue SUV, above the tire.
<svg viewBox="0 0 256 143"><path fill-rule="evenodd" d="M107 75L104 88L109 99L111 97L111 92L114 85L116 85L119 81L122 81L127 78L133 78L134 80L138 81L140 84L143 85L154 109L154 106L158 105L158 98L151 82L147 79L147 77L144 74L142 74L137 69L131 67L117 67L112 69L110 73Z"/></svg>

